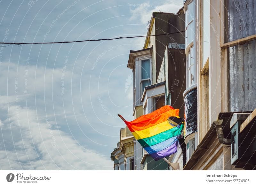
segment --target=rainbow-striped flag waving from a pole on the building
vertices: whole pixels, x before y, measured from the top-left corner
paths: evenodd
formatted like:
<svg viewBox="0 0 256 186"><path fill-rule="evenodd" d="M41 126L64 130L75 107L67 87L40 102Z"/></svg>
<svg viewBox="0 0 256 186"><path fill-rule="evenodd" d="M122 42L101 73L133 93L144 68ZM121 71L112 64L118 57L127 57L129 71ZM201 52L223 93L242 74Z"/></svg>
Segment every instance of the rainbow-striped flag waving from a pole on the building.
<svg viewBox="0 0 256 186"><path fill-rule="evenodd" d="M121 115L119 117L123 119ZM133 136L155 160L177 152L184 124L179 109L166 105L133 121L124 120Z"/></svg>

